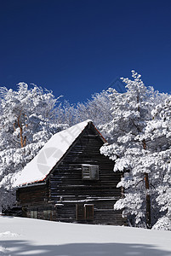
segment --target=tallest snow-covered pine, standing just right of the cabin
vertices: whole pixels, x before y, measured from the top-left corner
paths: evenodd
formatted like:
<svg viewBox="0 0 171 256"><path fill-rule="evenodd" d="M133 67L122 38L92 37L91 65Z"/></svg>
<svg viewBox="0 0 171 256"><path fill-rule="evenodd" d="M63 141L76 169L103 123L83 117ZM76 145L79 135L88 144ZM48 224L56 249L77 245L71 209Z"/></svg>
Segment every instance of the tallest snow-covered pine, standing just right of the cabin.
<svg viewBox="0 0 171 256"><path fill-rule="evenodd" d="M102 147L101 154L115 160L114 172L124 173L117 186L123 187L125 194L114 208L123 209L132 224L151 228L151 208L156 203L151 172L154 160L141 135L151 120L151 110L166 96L146 88L140 74L132 71L132 77L123 79L125 93L110 90L113 119L101 130L108 134L111 145Z"/></svg>

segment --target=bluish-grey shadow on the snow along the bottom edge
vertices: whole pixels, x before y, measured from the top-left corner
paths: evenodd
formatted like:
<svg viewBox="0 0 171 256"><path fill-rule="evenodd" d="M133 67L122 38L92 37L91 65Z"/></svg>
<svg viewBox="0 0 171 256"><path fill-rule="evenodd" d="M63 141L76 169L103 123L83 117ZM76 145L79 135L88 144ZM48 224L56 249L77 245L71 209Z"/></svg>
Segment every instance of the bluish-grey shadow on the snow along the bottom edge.
<svg viewBox="0 0 171 256"><path fill-rule="evenodd" d="M3 248L2 248L3 247ZM3 251L1 251L3 249ZM0 255L43 256L170 256L171 253L146 244L72 243L65 245L32 245L29 241L0 241Z"/></svg>

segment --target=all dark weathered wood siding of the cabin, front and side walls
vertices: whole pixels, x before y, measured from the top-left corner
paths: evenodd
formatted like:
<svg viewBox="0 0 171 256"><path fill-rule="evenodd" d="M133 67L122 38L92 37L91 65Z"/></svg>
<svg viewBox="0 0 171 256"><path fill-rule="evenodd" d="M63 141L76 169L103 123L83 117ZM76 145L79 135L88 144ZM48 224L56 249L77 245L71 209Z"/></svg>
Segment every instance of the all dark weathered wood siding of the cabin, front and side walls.
<svg viewBox="0 0 171 256"><path fill-rule="evenodd" d="M113 172L114 162L100 154L103 141L93 125L86 128L69 152L54 166L46 185L35 185L18 190L18 201L24 216L88 224L123 224L122 214L113 210L121 198L117 183L121 173ZM82 165L98 165L98 180L83 180ZM77 205L94 205L93 219L77 219Z"/></svg>

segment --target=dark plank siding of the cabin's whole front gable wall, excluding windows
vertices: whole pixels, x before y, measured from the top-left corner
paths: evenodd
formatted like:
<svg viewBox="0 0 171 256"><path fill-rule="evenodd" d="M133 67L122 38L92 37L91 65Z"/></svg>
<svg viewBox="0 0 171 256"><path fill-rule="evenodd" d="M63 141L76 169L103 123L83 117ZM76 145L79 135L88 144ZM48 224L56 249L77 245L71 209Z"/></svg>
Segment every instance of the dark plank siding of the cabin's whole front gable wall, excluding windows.
<svg viewBox="0 0 171 256"><path fill-rule="evenodd" d="M94 129L87 129L60 165L54 167L49 177L49 200L59 204L56 220L123 224L121 212L113 210L114 203L121 198L121 189L117 189L121 173L113 172L114 161L100 154L102 145ZM98 165L99 180L83 180L82 164ZM76 205L85 203L94 204L94 220L77 221Z"/></svg>

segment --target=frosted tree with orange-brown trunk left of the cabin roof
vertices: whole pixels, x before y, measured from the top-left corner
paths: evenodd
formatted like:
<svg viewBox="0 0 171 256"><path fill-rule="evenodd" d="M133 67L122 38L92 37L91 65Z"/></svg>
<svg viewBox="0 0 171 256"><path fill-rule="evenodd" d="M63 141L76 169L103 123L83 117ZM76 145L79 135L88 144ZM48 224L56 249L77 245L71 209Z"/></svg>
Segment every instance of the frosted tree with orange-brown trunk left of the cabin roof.
<svg viewBox="0 0 171 256"><path fill-rule="evenodd" d="M51 91L20 83L18 90L0 88L0 94L0 206L5 207L14 200L12 183L17 173L65 125L57 122L58 99Z"/></svg>

